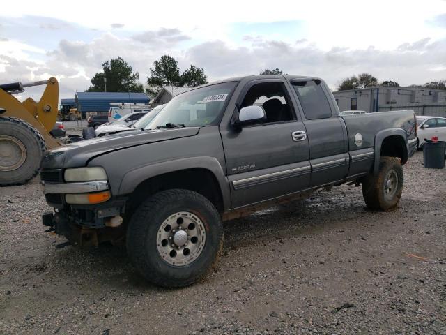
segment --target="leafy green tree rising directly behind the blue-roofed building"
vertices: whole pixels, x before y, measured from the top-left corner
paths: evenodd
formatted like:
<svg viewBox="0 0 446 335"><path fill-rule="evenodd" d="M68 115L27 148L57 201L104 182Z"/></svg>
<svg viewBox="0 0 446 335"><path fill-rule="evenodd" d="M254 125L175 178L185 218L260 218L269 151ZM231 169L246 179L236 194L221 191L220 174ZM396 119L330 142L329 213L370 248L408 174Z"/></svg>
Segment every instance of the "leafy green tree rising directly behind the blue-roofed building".
<svg viewBox="0 0 446 335"><path fill-rule="evenodd" d="M104 76L107 79L109 92L142 92L143 86L138 82L139 73L132 73L130 66L121 57L111 59L102 64L103 72L98 72L91 78L91 86L86 92L105 91Z"/></svg>

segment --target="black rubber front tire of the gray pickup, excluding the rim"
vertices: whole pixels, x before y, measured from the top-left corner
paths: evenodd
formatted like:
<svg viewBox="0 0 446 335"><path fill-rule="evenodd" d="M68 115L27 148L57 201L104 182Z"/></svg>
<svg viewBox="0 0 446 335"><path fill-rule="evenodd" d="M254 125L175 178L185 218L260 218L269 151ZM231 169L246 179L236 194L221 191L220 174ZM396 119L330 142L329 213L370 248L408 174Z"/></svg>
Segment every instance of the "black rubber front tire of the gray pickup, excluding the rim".
<svg viewBox="0 0 446 335"><path fill-rule="evenodd" d="M184 212L199 218L206 239L197 258L185 265L172 265L158 251L159 236L168 218ZM172 189L153 195L139 206L128 226L127 250L132 264L147 281L163 287L178 288L200 281L213 267L222 246L220 214L194 191Z"/></svg>

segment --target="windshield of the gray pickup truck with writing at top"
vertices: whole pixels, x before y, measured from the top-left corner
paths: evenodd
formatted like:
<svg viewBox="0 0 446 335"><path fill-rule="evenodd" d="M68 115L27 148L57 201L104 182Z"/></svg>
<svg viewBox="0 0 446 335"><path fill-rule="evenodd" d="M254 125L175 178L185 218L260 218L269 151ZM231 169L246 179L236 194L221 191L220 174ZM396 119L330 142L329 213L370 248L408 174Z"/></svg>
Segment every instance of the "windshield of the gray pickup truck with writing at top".
<svg viewBox="0 0 446 335"><path fill-rule="evenodd" d="M220 118L236 82L222 82L174 97L145 129L178 126L208 126ZM149 113L150 114L150 113Z"/></svg>

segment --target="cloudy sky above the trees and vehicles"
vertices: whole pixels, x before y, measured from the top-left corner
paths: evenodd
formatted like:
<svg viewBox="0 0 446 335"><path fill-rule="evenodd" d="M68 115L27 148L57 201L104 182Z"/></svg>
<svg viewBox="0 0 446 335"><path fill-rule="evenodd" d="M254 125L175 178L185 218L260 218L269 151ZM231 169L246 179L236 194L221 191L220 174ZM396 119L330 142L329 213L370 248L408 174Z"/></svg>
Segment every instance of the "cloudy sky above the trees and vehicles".
<svg viewBox="0 0 446 335"><path fill-rule="evenodd" d="M74 98L108 59L123 57L145 82L162 54L210 81L264 68L323 77L332 89L361 72L401 85L446 79L446 0L253 3L8 1L0 82L55 76L60 97Z"/></svg>

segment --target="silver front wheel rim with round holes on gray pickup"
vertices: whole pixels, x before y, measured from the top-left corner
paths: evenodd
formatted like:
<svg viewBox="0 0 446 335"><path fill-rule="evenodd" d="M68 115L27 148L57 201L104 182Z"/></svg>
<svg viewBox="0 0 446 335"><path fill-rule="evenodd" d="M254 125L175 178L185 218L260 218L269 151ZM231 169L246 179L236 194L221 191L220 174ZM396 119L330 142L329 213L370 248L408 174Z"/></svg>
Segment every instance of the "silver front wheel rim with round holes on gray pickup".
<svg viewBox="0 0 446 335"><path fill-rule="evenodd" d="M206 243L206 230L200 218L188 211L172 214L157 232L157 251L161 258L177 267L197 260Z"/></svg>

